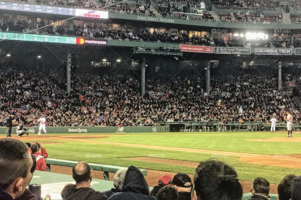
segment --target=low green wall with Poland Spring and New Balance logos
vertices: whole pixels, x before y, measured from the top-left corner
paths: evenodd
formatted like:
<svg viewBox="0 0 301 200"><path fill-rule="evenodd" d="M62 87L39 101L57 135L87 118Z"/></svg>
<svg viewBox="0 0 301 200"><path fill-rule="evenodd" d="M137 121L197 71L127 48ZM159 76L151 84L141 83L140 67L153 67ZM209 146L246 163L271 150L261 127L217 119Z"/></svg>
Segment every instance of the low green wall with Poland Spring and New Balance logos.
<svg viewBox="0 0 301 200"><path fill-rule="evenodd" d="M30 134L36 134L39 127L24 127ZM12 128L12 135L16 134ZM5 134L7 127L0 127L0 134ZM167 132L166 126L147 127L46 127L47 133L156 133ZM42 131L43 134L43 131Z"/></svg>

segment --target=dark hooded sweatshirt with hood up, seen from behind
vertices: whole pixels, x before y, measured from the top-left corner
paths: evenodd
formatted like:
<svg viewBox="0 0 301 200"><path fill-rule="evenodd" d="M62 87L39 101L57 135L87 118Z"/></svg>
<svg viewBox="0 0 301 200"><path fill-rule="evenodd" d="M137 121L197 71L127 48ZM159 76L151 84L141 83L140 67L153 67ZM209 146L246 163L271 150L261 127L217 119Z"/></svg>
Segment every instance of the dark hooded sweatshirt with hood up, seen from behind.
<svg viewBox="0 0 301 200"><path fill-rule="evenodd" d="M121 192L113 194L108 200L156 200L149 193L143 174L138 168L130 166L125 173Z"/></svg>

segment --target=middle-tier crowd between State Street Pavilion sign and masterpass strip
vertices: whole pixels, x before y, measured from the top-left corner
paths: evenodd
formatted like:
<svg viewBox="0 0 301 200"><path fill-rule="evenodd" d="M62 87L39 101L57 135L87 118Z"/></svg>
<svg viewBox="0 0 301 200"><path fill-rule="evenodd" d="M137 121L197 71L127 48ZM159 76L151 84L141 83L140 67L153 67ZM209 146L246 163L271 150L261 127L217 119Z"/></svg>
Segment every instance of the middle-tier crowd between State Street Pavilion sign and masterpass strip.
<svg viewBox="0 0 301 200"><path fill-rule="evenodd" d="M261 39L244 39L243 37L229 37L226 41L224 38L213 38L204 35L189 35L187 33L153 31L150 29L135 29L134 27L121 30L110 30L105 24L87 26L73 25L73 30L68 29L67 26L53 26L44 27L44 21L40 21L36 26L33 26L31 21L18 21L16 25L13 22L3 22L0 24L1 30L14 31L14 32L34 32L44 35L75 35L84 37L103 38L105 40L118 39L118 40L136 40L136 41L150 41L150 42L169 42L169 43L185 43L185 44L198 44L206 46L222 46L222 47L245 47L250 44L251 47L300 47L300 37L295 37L292 42L291 36L273 35L270 34L267 38ZM41 28L44 27L44 28ZM34 29L38 30L33 31ZM136 31L133 31L136 30ZM248 46L249 47L249 46Z"/></svg>

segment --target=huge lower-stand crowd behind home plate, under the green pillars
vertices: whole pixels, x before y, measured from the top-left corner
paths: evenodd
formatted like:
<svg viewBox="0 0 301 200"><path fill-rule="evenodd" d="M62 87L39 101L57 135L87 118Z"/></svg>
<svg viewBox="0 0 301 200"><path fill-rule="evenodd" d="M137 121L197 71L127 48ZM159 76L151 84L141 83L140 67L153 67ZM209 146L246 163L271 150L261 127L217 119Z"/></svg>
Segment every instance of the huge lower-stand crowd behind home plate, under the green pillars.
<svg viewBox="0 0 301 200"><path fill-rule="evenodd" d="M3 63L5 66L6 64ZM198 76L169 76L146 79L146 94L140 94L140 81L130 75L73 73L71 95L63 89L65 79L57 72L45 77L30 69L1 70L1 121L12 113L24 126L37 126L40 114L47 126L154 126L161 121L261 121L268 122L291 110L300 121L300 108L292 93L277 93L276 78L221 75L212 77L215 96L203 91ZM99 87L99 86L102 87ZM159 94L159 95L158 95ZM239 113L239 107L243 112ZM17 122L15 122L17 123Z"/></svg>

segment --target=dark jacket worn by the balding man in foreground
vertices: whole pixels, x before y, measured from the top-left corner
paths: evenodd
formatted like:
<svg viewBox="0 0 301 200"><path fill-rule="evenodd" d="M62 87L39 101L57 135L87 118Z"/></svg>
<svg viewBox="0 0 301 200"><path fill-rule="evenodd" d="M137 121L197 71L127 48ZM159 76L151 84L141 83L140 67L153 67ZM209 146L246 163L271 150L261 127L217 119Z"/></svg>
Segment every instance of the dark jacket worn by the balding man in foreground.
<svg viewBox="0 0 301 200"><path fill-rule="evenodd" d="M63 200L106 200L106 195L95 191L91 187L76 188L74 184L67 184L61 192Z"/></svg>

